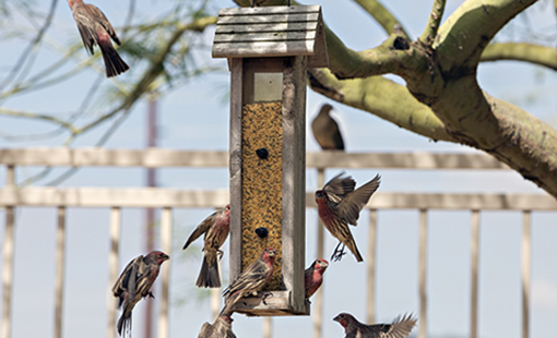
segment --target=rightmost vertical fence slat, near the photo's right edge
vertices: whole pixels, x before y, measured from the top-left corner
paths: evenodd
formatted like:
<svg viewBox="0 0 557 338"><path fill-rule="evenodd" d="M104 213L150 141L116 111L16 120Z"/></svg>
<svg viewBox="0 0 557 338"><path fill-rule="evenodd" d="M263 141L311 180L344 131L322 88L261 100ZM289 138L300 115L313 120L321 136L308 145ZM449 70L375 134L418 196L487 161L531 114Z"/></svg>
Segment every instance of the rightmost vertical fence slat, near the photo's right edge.
<svg viewBox="0 0 557 338"><path fill-rule="evenodd" d="M530 331L530 264L532 256L531 212L524 210L522 224L522 338Z"/></svg>

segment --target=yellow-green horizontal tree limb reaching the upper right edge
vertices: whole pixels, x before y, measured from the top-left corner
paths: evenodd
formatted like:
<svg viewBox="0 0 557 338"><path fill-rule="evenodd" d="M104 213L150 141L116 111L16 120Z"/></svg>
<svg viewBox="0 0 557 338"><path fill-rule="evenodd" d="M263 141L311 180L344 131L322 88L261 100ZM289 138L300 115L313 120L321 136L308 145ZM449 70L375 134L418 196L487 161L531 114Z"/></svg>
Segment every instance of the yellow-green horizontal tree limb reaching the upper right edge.
<svg viewBox="0 0 557 338"><path fill-rule="evenodd" d="M557 0L556 0L557 1ZM489 44L479 61L515 60L547 67L557 71L557 49L532 44Z"/></svg>

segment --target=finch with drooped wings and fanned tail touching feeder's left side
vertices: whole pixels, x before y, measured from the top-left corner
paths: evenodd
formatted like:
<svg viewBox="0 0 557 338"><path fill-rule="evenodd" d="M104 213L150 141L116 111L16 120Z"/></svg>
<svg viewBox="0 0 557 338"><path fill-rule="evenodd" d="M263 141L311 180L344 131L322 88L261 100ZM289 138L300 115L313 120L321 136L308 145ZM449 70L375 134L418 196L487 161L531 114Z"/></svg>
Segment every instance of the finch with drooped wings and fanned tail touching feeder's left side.
<svg viewBox="0 0 557 338"><path fill-rule="evenodd" d="M204 237L203 244L203 263L199 273L195 286L199 288L220 288L221 276L218 275L217 254L223 254L220 248L226 241L230 232L230 205L227 204L220 212L211 214L205 218L186 241L183 250L186 250L202 233Z"/></svg>

